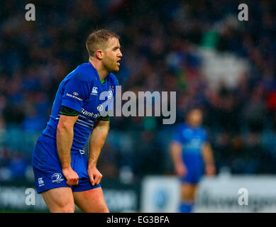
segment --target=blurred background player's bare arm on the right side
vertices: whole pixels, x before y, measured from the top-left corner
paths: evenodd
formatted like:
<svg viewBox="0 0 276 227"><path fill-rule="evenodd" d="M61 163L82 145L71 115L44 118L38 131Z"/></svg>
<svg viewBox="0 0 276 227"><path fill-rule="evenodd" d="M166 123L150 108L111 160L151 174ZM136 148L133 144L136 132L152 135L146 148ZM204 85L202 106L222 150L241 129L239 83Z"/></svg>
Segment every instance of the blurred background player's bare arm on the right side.
<svg viewBox="0 0 276 227"><path fill-rule="evenodd" d="M215 175L216 166L210 143L204 143L204 145L202 145L202 157L205 163L206 175Z"/></svg>

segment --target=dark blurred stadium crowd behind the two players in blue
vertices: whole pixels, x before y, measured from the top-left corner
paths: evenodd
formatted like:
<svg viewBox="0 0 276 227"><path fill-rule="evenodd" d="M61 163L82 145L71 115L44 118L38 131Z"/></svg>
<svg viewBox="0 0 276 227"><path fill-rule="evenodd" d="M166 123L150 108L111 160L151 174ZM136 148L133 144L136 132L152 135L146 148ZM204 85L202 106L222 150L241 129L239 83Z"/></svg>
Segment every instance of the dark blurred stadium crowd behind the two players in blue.
<svg viewBox="0 0 276 227"><path fill-rule="evenodd" d="M35 4L36 21L25 20L28 3ZM240 3L248 4L249 21L238 21ZM23 189L34 187L34 143L61 80L87 62L84 43L94 28L121 35L123 58L116 76L123 91L176 91L175 125L190 106L202 106L215 179L243 176L254 182L270 175L274 185L275 12L274 1L255 0L1 1L0 210L41 210L24 204ZM143 211L143 180L174 175L168 143L175 125L161 120L111 119L99 159L111 211ZM260 211L268 185L269 179L262 183L253 211ZM156 194L162 211L168 195Z"/></svg>

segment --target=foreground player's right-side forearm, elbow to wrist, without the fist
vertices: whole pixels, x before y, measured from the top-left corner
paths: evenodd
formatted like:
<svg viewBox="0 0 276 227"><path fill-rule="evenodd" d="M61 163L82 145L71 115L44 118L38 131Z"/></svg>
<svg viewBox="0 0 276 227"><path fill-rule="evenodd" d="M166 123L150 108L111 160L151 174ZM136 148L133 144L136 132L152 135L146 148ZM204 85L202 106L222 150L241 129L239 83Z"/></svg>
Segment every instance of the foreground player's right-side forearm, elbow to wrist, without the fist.
<svg viewBox="0 0 276 227"><path fill-rule="evenodd" d="M109 133L109 126L96 126L89 138L89 161L88 167L96 167L101 148L104 146L106 136Z"/></svg>

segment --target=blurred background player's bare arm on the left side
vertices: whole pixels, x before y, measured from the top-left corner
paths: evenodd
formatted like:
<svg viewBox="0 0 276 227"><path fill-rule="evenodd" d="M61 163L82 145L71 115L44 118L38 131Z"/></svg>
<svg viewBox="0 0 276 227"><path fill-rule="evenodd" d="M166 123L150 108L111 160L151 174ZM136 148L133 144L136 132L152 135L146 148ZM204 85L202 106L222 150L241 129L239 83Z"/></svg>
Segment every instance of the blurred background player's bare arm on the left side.
<svg viewBox="0 0 276 227"><path fill-rule="evenodd" d="M175 172L180 177L184 177L187 174L187 168L182 160L182 145L173 141L170 143L170 152L172 155L172 162L175 166Z"/></svg>

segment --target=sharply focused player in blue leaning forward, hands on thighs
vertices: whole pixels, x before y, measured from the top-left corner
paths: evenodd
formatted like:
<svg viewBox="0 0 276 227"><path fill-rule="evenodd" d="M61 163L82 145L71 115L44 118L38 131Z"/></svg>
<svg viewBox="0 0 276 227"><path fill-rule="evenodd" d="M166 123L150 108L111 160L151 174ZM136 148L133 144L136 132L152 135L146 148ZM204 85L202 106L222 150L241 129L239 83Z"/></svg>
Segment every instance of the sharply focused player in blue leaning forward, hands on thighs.
<svg viewBox="0 0 276 227"><path fill-rule="evenodd" d="M94 31L86 45L89 62L60 83L50 121L33 152L35 187L51 212L74 212L74 203L84 212L109 212L96 162L109 131L109 116L100 112L103 102L116 95L118 80L111 72L119 70L121 46L118 35L107 30ZM99 99L101 92L109 94L105 100Z"/></svg>

